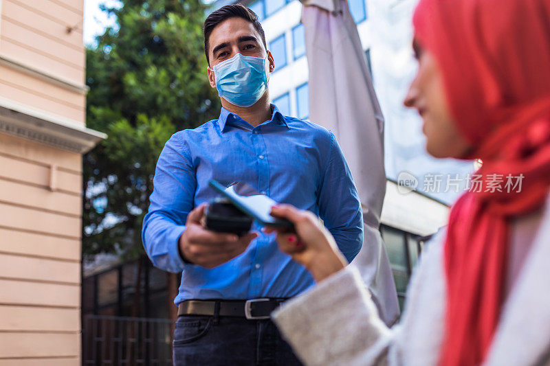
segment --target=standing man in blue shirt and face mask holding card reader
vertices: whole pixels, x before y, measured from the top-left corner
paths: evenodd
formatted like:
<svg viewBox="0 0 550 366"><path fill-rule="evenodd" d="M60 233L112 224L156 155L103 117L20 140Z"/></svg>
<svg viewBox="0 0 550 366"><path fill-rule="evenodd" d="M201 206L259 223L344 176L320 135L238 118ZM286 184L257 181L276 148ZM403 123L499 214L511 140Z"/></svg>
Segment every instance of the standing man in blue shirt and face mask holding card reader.
<svg viewBox="0 0 550 366"><path fill-rule="evenodd" d="M257 226L240 238L205 229L205 203L217 196L208 181L248 183L318 214L349 261L362 246L358 193L332 133L270 104L275 64L252 10L212 12L204 49L223 108L164 146L142 233L155 266L182 272L174 363L300 365L269 315L313 279Z"/></svg>

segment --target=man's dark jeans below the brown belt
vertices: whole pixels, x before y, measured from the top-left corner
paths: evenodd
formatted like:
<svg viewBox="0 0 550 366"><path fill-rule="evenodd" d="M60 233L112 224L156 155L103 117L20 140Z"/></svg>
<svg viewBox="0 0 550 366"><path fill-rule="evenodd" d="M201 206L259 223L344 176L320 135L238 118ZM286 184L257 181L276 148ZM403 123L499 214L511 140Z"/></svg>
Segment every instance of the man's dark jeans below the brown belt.
<svg viewBox="0 0 550 366"><path fill-rule="evenodd" d="M177 318L175 366L302 365L270 320L181 315Z"/></svg>

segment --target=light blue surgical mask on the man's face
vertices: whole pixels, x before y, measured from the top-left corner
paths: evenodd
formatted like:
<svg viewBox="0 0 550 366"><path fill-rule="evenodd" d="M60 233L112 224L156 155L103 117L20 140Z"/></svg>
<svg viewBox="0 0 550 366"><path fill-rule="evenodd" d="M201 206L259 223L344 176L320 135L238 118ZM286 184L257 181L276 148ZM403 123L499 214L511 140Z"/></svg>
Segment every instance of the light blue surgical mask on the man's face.
<svg viewBox="0 0 550 366"><path fill-rule="evenodd" d="M252 106L267 89L265 58L236 54L214 65L218 95L236 106Z"/></svg>

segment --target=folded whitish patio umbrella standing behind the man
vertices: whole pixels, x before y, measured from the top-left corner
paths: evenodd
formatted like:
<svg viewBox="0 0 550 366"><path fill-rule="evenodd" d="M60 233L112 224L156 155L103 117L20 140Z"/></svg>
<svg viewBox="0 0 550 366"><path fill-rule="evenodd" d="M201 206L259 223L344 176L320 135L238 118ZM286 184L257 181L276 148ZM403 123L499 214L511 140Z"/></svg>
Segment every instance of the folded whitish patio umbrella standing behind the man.
<svg viewBox="0 0 550 366"><path fill-rule="evenodd" d="M384 117L347 1L300 1L309 117L334 133L353 174L364 212L364 244L352 265L359 268L380 317L391 325L399 316L399 304L379 231L386 193Z"/></svg>

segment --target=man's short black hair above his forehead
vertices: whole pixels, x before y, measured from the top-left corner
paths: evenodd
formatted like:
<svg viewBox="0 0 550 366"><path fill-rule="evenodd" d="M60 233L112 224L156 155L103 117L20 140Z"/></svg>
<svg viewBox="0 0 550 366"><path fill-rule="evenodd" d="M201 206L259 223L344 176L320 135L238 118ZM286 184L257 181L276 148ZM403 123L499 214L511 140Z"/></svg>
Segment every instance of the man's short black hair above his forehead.
<svg viewBox="0 0 550 366"><path fill-rule="evenodd" d="M210 65L210 57L208 57L208 45L212 30L214 30L214 28L217 27L219 23L235 17L245 19L245 21L250 21L250 23L254 25L254 28L256 28L262 38L263 47L267 49L267 45L265 43L265 34L256 13L241 4L225 5L218 10L212 12L212 14L208 15L208 18L206 18L206 21L204 21L204 54L206 54L208 65Z"/></svg>

